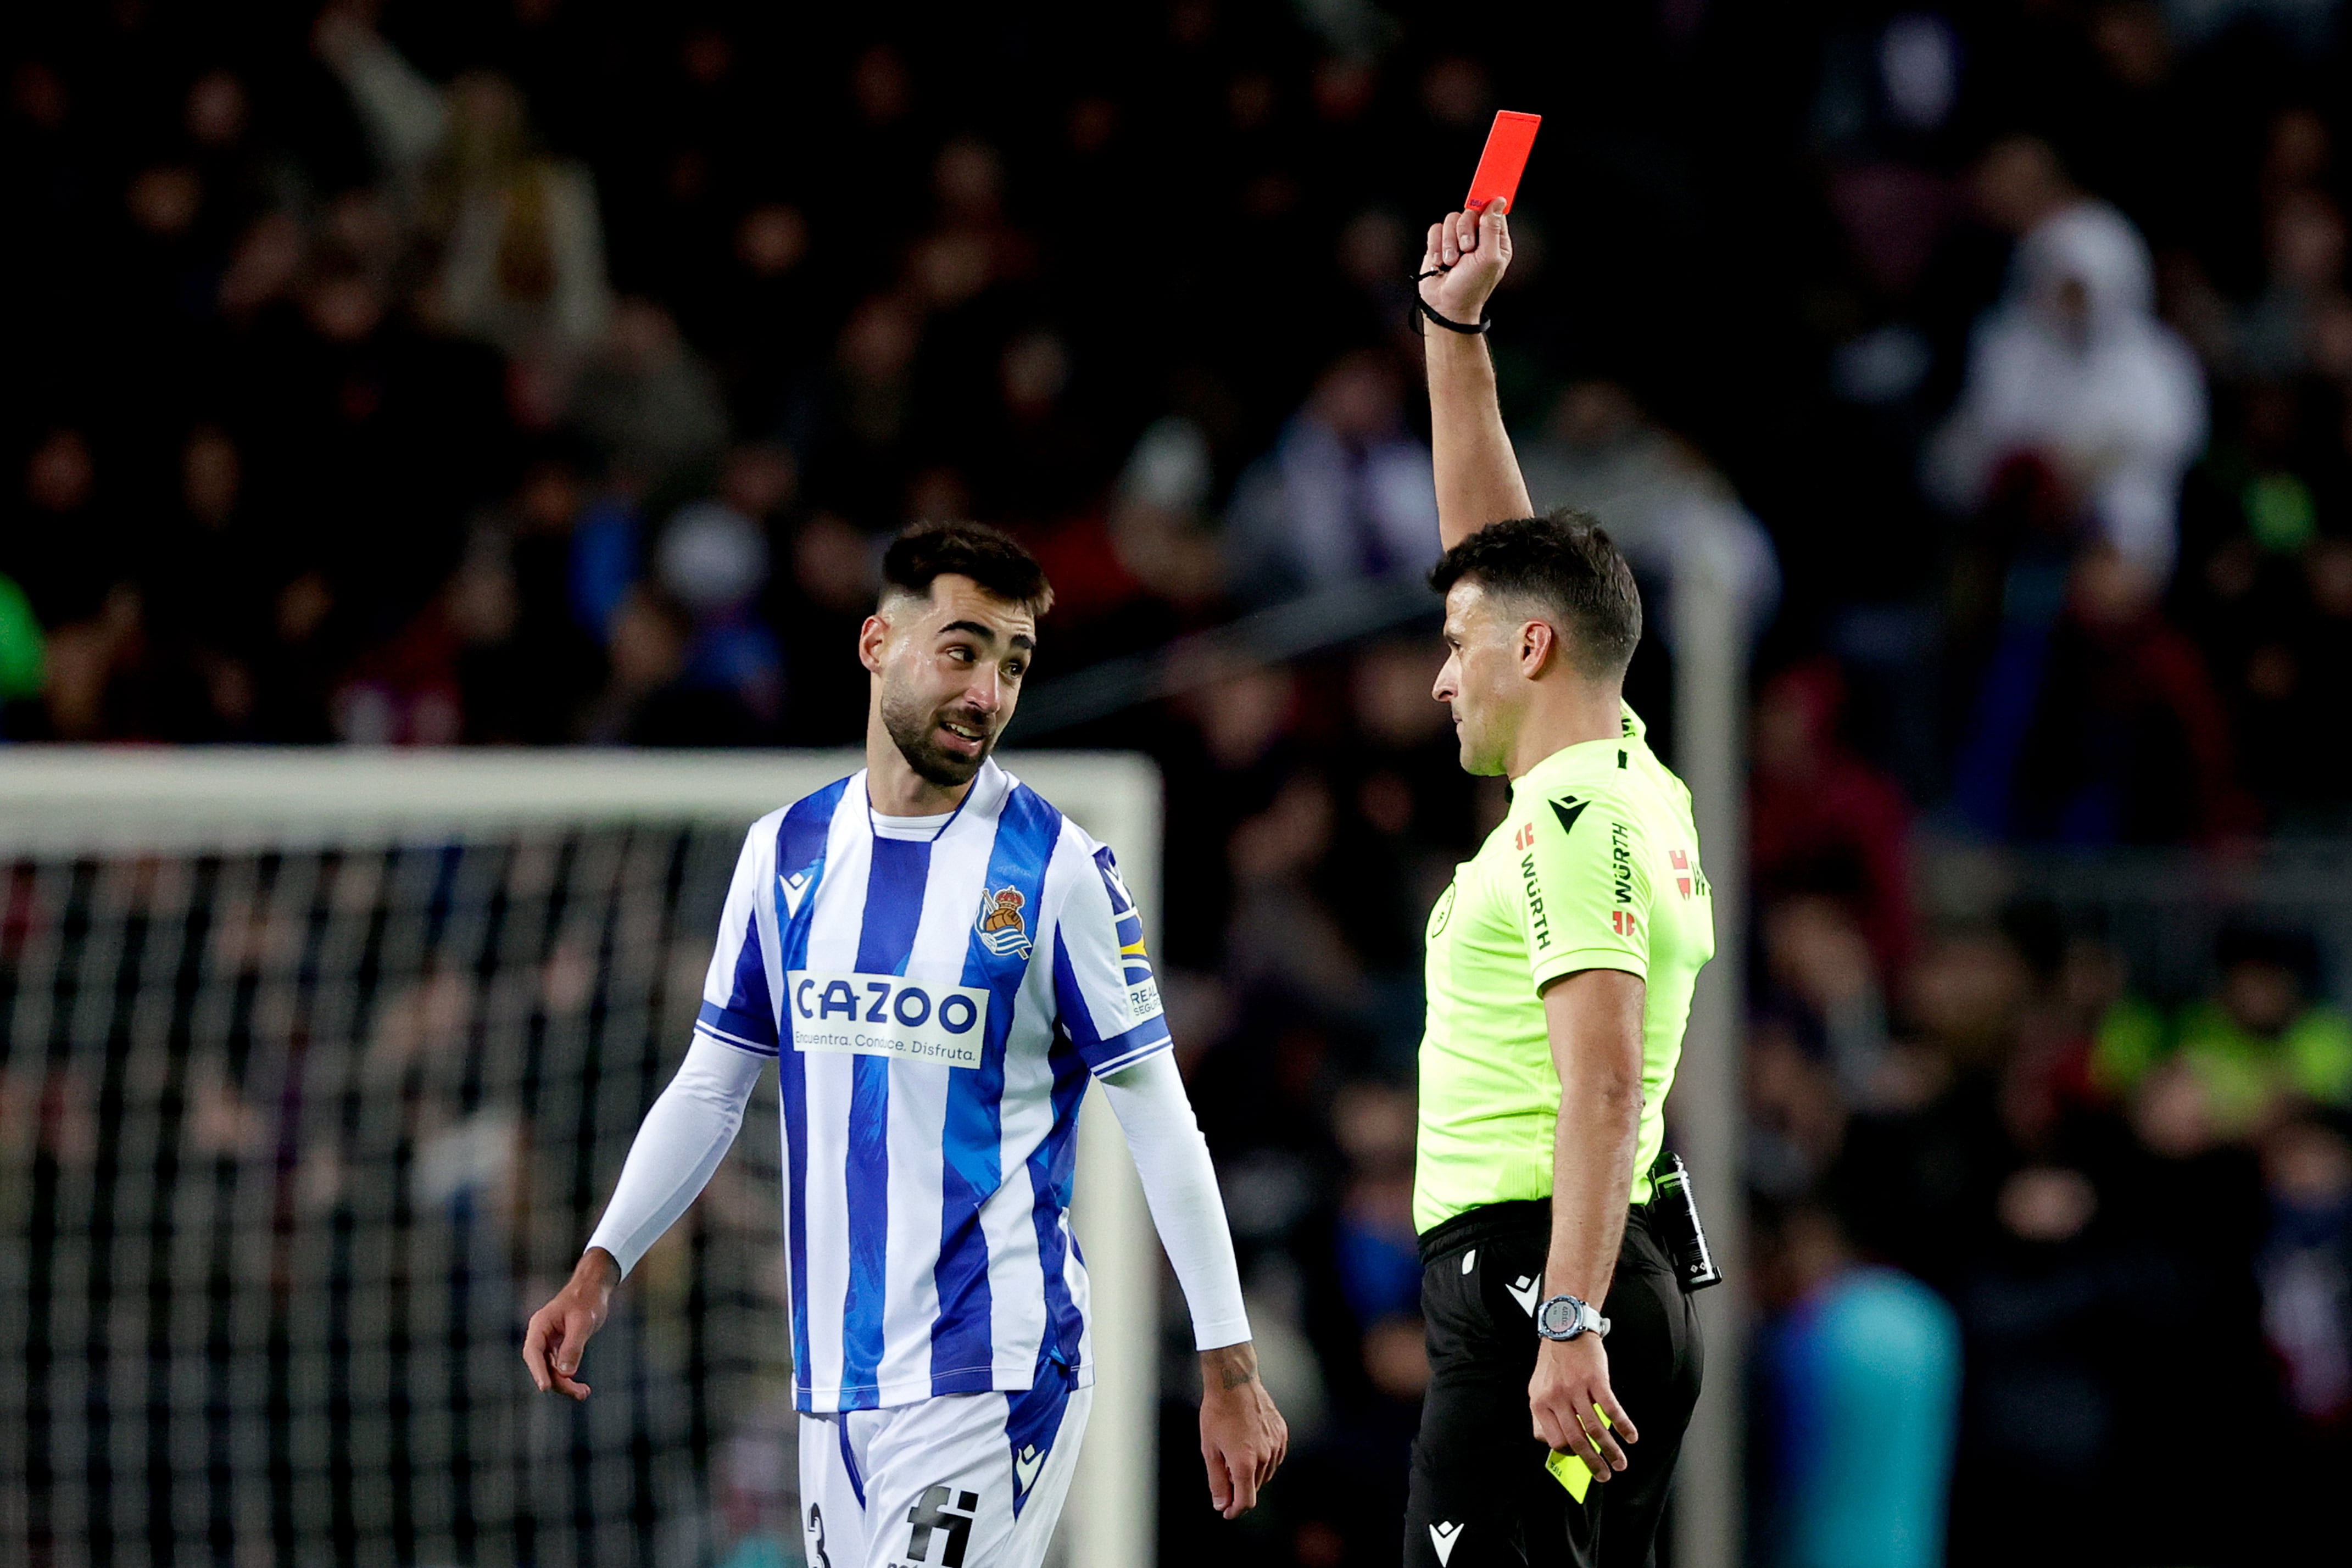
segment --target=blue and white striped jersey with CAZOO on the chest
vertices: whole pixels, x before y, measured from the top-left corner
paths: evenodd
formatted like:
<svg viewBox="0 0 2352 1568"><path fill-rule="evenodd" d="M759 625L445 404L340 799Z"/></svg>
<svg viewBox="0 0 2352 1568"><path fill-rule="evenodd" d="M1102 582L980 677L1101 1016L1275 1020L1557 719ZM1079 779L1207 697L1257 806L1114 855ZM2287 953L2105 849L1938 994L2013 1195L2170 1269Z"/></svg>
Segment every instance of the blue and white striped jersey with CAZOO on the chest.
<svg viewBox="0 0 2352 1568"><path fill-rule="evenodd" d="M753 825L696 1023L783 1072L797 1403L1087 1385L1077 1107L1169 1048L1136 903L995 762L936 837L875 820L856 773Z"/></svg>

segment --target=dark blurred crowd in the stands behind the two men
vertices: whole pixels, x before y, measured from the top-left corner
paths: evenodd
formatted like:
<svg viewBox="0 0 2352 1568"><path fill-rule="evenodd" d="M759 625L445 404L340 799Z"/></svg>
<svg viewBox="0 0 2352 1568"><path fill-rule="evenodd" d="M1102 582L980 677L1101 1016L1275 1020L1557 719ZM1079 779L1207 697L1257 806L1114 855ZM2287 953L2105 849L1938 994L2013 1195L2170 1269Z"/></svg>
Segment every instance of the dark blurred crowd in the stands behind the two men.
<svg viewBox="0 0 2352 1568"><path fill-rule="evenodd" d="M2343 1537L2333 2L5 26L7 738L833 745L880 538L1037 548L1014 743L1164 769L1167 992L1298 1432L1225 1547L1171 1356L1171 1563L1392 1554L1418 924L1498 799L1359 590L1432 536L1418 226L1541 110L1494 339L1538 501L1653 597L1729 545L1752 611L1755 1559L1896 1561L1860 1443L1955 1561ZM2110 244L2114 353L2037 404L1971 331L2086 197L2154 296ZM1670 686L1646 651L1658 736Z"/></svg>

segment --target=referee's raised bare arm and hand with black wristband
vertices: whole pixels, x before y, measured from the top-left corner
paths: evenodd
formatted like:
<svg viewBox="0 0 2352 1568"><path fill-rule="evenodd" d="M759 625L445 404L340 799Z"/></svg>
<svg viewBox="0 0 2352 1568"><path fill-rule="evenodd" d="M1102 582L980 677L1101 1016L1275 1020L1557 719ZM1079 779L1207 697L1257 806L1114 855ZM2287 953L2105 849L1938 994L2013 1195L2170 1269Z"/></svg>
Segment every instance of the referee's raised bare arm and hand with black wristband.
<svg viewBox="0 0 2352 1568"><path fill-rule="evenodd" d="M1423 360L1430 371L1430 454L1437 463L1437 541L1451 550L1489 522L1526 517L1526 480L1503 430L1486 357L1486 296L1510 268L1510 202L1449 212L1421 256ZM1428 320L1435 317L1435 320Z"/></svg>

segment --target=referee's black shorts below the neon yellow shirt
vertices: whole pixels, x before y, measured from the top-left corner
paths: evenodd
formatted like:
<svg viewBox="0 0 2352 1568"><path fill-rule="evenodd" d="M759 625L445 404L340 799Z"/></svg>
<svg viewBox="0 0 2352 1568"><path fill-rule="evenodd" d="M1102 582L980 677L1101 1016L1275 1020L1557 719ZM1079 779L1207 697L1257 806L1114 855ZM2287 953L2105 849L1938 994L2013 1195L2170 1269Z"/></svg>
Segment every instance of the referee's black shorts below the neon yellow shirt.
<svg viewBox="0 0 2352 1568"><path fill-rule="evenodd" d="M1682 1432L1698 1403L1698 1314L1651 1232L1625 1220L1609 1319L1609 1385L1642 1432L1628 1467L1576 1502L1543 1467L1526 1415L1536 1373L1534 1307L1552 1244L1552 1206L1491 1204L1421 1241L1430 1392L1404 1505L1406 1568L1651 1568Z"/></svg>

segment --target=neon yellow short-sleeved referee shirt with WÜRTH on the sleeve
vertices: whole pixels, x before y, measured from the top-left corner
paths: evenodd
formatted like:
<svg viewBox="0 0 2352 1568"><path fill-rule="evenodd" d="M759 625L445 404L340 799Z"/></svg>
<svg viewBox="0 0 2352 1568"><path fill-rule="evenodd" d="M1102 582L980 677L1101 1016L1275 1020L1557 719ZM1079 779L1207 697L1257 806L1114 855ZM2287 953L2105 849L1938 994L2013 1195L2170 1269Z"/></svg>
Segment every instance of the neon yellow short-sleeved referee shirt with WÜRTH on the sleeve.
<svg viewBox="0 0 2352 1568"><path fill-rule="evenodd" d="M1503 823L1430 910L1414 1229L1552 1194L1559 1074L1541 992L1581 969L1623 969L1649 987L1628 1194L1646 1201L1691 987L1712 957L1691 792L1651 755L1632 708L1621 738L1552 752L1517 778Z"/></svg>

